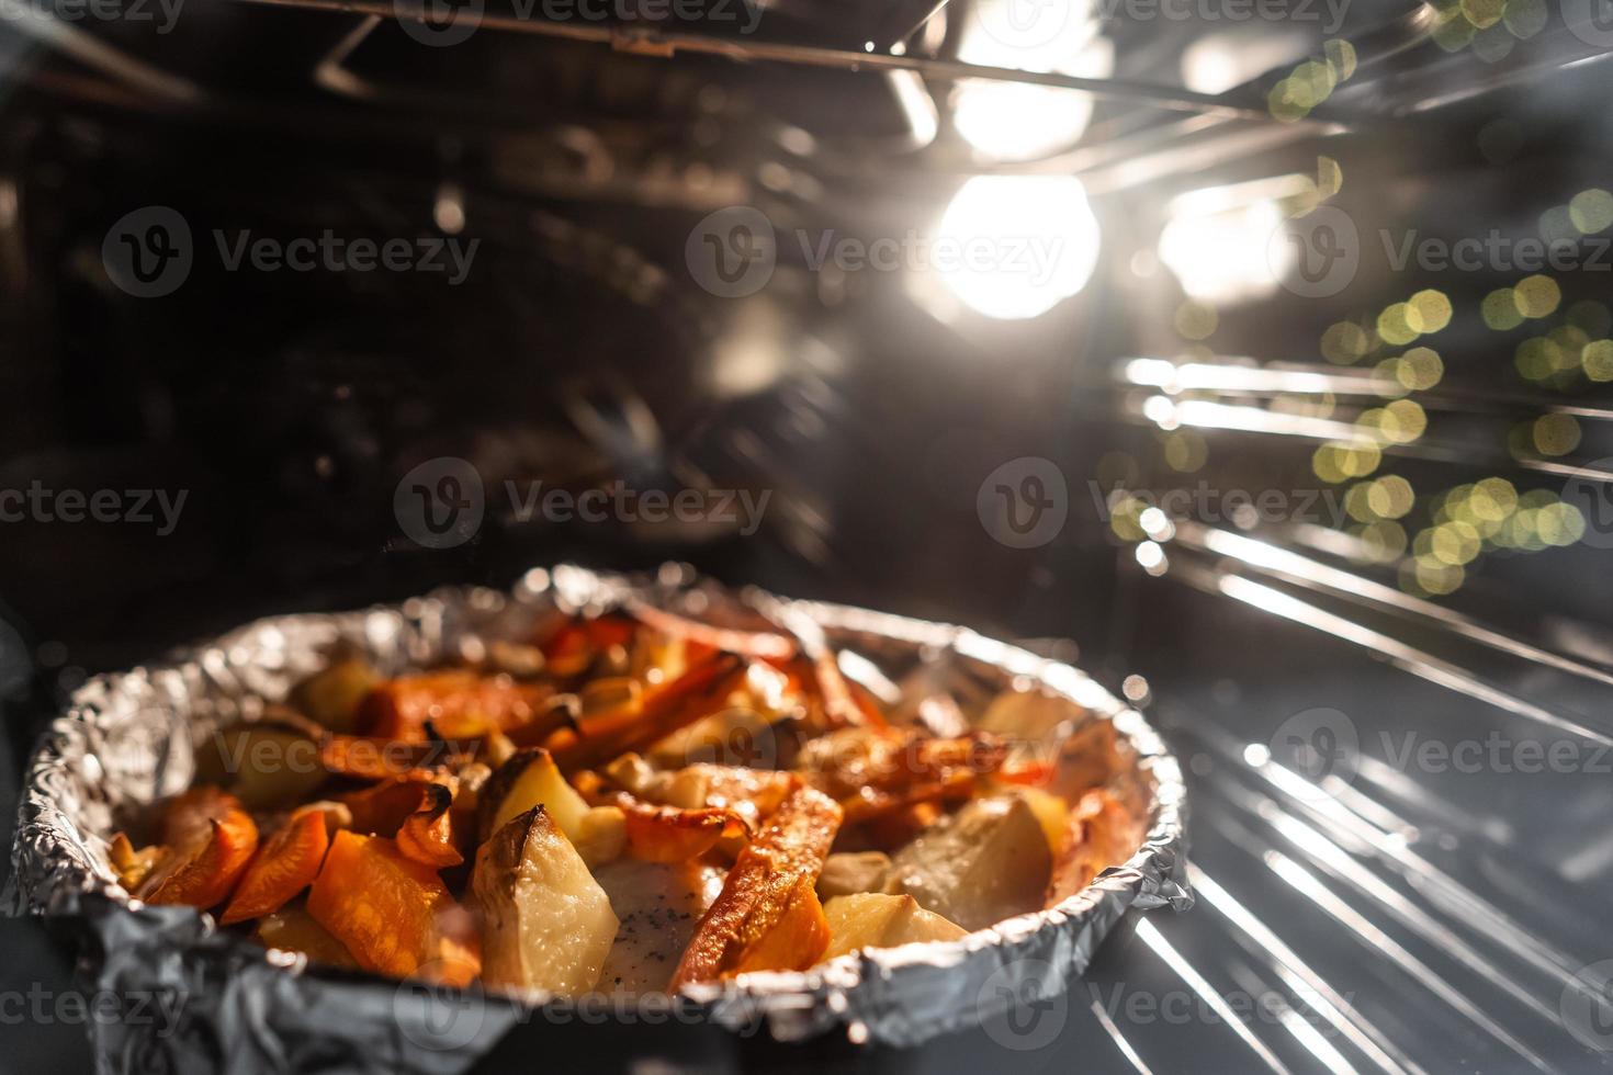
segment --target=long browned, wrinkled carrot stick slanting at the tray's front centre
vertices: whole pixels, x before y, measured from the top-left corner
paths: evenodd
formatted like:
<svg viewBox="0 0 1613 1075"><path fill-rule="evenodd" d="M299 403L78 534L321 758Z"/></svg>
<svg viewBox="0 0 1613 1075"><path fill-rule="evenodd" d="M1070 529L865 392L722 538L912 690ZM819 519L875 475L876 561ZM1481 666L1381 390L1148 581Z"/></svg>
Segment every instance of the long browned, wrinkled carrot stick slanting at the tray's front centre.
<svg viewBox="0 0 1613 1075"><path fill-rule="evenodd" d="M810 907L792 909L792 904L803 882L816 883L839 828L840 806L821 791L802 788L787 798L739 853L723 893L695 927L671 988L737 973L742 964L758 970L761 962L787 957L790 965L769 969L805 970L816 962L823 949L808 953L811 936L769 935L779 928L798 932L803 920L810 924ZM823 933L827 944L827 932Z"/></svg>

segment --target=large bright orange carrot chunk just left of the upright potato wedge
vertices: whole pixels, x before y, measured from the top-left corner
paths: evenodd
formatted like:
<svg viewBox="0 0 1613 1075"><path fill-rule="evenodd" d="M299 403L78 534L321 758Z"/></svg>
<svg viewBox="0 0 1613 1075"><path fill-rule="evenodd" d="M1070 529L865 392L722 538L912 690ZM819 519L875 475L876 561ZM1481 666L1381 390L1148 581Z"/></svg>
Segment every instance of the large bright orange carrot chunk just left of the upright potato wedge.
<svg viewBox="0 0 1613 1075"><path fill-rule="evenodd" d="M466 985L481 973L469 915L429 865L384 836L339 832L308 891L308 914L366 970Z"/></svg>

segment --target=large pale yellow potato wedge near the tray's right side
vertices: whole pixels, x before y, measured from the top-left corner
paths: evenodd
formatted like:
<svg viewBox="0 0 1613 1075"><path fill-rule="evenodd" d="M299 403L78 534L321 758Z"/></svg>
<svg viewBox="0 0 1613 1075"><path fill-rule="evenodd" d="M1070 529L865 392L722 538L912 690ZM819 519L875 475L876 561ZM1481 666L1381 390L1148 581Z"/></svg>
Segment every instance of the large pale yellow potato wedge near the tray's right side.
<svg viewBox="0 0 1613 1075"><path fill-rule="evenodd" d="M1042 824L1019 796L974 799L890 859L902 891L966 930L1042 907L1052 870Z"/></svg>

